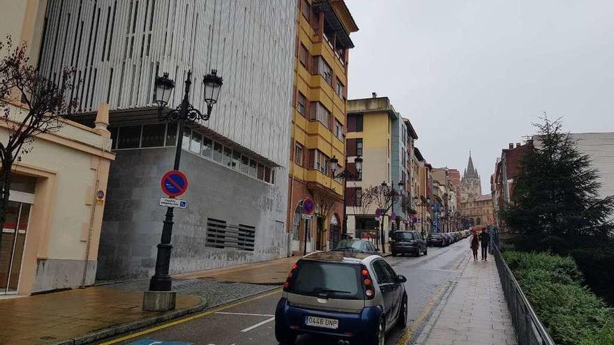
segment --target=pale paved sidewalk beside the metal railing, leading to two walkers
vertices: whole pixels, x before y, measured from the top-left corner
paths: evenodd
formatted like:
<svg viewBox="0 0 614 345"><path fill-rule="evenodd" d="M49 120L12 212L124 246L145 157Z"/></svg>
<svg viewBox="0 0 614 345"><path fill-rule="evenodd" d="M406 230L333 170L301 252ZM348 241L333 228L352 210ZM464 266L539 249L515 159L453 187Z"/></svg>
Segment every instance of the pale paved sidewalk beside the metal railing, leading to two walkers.
<svg viewBox="0 0 614 345"><path fill-rule="evenodd" d="M495 258L467 262L433 312L416 344L516 345Z"/></svg>

